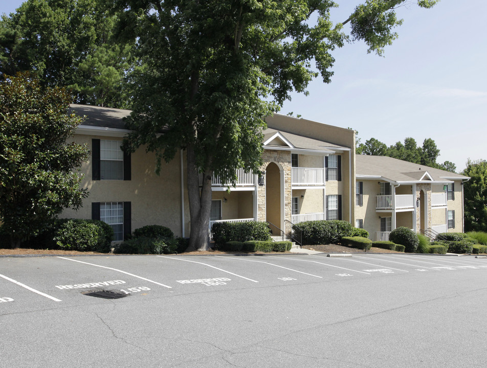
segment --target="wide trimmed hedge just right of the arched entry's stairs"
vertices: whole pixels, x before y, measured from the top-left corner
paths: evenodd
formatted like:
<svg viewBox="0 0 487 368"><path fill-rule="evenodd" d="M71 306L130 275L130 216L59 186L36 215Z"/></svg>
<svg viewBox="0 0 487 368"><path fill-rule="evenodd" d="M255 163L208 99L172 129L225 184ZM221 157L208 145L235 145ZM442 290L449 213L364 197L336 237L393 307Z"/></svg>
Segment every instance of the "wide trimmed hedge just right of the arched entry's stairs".
<svg viewBox="0 0 487 368"><path fill-rule="evenodd" d="M303 231L303 244L338 244L352 234L352 225L341 220L304 221L297 224Z"/></svg>

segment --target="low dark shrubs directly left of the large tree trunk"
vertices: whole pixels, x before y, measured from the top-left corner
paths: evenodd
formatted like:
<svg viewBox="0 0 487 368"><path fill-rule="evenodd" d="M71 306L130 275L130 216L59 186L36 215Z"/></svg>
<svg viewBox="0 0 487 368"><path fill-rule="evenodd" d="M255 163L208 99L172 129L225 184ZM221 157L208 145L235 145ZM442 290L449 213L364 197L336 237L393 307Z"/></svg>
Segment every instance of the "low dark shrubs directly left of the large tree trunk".
<svg viewBox="0 0 487 368"><path fill-rule="evenodd" d="M115 252L117 254L173 254L178 249L178 241L174 238L148 238L141 236L124 241Z"/></svg>

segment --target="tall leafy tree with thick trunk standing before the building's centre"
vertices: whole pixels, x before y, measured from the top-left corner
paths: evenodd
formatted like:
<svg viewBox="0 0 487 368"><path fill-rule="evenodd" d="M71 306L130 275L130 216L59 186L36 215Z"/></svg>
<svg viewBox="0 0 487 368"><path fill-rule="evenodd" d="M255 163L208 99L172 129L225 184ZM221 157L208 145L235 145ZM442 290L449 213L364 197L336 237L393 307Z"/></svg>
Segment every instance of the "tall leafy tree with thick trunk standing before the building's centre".
<svg viewBox="0 0 487 368"><path fill-rule="evenodd" d="M329 83L331 53L345 42L363 40L381 55L402 22L394 9L406 2L368 0L338 24L329 0L112 3L143 65L130 76L127 148L145 145L159 166L186 151L190 248L206 249L212 175L232 185L237 168L259 171L263 118L313 78Z"/></svg>

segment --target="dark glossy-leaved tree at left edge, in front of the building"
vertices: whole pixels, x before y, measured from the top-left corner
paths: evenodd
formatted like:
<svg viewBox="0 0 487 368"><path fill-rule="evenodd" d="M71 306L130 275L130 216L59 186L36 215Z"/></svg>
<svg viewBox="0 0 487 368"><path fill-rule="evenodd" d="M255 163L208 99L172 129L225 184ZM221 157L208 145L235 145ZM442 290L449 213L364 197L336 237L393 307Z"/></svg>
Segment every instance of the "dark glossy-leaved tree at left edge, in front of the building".
<svg viewBox="0 0 487 368"><path fill-rule="evenodd" d="M88 150L67 142L82 121L69 114L70 98L28 73L0 83L0 222L12 246L87 196L75 168Z"/></svg>

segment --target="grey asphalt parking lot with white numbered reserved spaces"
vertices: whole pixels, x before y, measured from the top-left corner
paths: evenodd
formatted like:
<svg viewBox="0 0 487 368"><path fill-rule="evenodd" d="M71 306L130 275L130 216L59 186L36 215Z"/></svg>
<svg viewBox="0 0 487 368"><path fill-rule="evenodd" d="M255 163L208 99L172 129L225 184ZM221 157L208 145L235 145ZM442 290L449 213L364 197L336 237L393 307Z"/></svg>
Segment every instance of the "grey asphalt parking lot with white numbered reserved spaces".
<svg viewBox="0 0 487 368"><path fill-rule="evenodd" d="M472 256L2 257L0 367L484 367L486 276Z"/></svg>

